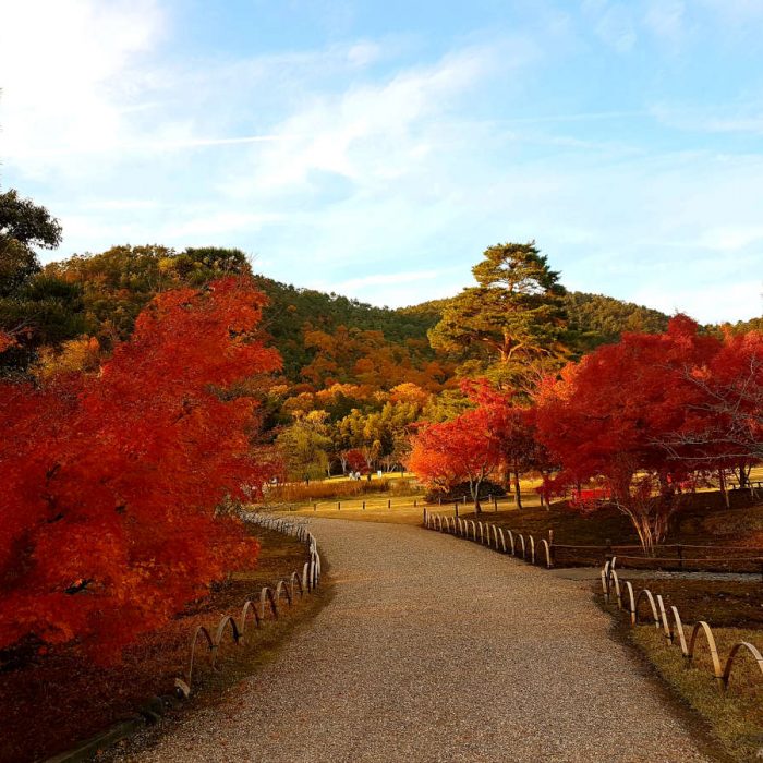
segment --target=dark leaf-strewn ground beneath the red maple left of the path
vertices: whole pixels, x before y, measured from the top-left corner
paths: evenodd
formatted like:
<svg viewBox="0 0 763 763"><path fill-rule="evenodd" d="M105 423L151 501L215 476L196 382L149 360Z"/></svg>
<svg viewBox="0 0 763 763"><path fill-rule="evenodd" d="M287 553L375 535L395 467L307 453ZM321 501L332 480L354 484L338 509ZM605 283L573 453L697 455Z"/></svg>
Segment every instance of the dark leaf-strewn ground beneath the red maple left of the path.
<svg viewBox="0 0 763 763"><path fill-rule="evenodd" d="M171 694L173 681L187 669L191 635L197 625L217 626L221 614L239 615L246 598L255 598L263 585L302 570L307 555L295 538L253 526L262 541L256 567L234 574L205 600L160 631L128 649L114 667L97 667L72 649L51 650L46 656L0 655L0 716L3 718L0 761L46 759L80 740L134 714L152 695ZM192 704L205 702L226 685L251 673L271 652L286 630L311 615L322 594L298 597L291 615L247 630L246 645L220 649L218 666L208 669L198 651ZM38 723L31 723L38 718Z"/></svg>

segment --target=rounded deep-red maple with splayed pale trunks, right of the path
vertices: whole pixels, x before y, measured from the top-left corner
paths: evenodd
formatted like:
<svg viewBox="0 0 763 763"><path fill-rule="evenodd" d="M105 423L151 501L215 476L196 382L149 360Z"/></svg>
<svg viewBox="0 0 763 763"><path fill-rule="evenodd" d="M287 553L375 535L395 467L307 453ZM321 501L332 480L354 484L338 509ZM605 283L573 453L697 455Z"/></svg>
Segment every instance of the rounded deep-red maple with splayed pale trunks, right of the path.
<svg viewBox="0 0 763 763"><path fill-rule="evenodd" d="M711 467L712 457L724 458L706 453L689 467L664 445L686 429L692 411L702 410L703 392L689 379L719 347L716 337L701 335L679 315L665 334L626 334L619 343L598 348L538 393L538 438L562 464L557 485L580 493L589 480L601 483L647 552L667 532L678 506L676 486L692 469Z"/></svg>

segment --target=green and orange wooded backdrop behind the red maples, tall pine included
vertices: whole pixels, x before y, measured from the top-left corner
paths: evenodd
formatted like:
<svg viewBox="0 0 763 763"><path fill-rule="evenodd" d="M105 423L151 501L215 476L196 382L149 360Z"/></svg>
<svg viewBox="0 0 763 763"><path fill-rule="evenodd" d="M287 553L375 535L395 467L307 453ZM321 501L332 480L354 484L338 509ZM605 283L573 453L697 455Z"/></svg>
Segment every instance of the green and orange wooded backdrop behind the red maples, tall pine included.
<svg viewBox="0 0 763 763"><path fill-rule="evenodd" d="M240 250L119 245L41 267L34 246L56 246L58 223L14 192L2 198L0 372L37 380L93 373L158 295L247 278L267 296L258 338L282 358L281 372L256 385L261 440L277 446L282 479L395 469L417 422L472 407L463 379L484 377L526 400L566 362L622 332L664 331L668 320L567 292L532 243L489 247L475 286L398 310L255 275Z"/></svg>

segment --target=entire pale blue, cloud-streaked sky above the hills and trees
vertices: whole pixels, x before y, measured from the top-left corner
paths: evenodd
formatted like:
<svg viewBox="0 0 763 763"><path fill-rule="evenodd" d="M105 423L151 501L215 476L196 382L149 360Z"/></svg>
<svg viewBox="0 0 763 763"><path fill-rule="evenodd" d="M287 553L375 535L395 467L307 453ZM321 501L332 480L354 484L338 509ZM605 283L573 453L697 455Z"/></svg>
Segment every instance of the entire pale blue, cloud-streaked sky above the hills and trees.
<svg viewBox="0 0 763 763"><path fill-rule="evenodd" d="M759 0L25 0L0 187L376 304L535 239L571 289L761 315ZM50 257L48 257L50 258Z"/></svg>

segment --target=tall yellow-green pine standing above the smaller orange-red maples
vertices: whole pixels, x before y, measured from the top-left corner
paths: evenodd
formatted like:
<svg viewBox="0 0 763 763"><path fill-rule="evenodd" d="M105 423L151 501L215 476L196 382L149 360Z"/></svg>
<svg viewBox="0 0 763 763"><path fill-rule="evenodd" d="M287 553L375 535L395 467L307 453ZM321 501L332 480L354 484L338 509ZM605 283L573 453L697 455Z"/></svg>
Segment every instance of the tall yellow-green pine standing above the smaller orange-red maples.
<svg viewBox="0 0 763 763"><path fill-rule="evenodd" d="M534 242L491 246L472 272L477 286L446 305L433 347L479 349L504 368L562 354L565 288Z"/></svg>

